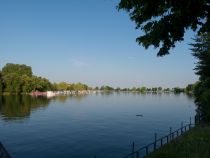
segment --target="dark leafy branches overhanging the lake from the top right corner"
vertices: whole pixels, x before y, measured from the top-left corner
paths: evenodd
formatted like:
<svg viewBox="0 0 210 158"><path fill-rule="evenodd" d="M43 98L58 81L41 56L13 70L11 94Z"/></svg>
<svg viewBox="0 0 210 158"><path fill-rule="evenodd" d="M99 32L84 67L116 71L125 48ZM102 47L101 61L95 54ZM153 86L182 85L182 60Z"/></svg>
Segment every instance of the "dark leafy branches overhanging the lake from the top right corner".
<svg viewBox="0 0 210 158"><path fill-rule="evenodd" d="M187 29L210 31L209 0L121 0L118 10L127 11L136 29L143 31L136 39L139 45L160 48L158 56L183 41Z"/></svg>

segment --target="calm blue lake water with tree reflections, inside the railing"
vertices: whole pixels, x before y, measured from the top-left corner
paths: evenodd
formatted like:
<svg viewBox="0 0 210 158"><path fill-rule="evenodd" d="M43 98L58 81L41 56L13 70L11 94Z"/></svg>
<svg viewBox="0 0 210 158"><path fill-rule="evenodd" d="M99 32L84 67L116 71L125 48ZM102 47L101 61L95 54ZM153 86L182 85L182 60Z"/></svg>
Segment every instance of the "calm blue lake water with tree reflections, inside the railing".
<svg viewBox="0 0 210 158"><path fill-rule="evenodd" d="M117 158L195 115L184 94L0 97L0 141L13 158ZM137 114L143 117L137 117Z"/></svg>

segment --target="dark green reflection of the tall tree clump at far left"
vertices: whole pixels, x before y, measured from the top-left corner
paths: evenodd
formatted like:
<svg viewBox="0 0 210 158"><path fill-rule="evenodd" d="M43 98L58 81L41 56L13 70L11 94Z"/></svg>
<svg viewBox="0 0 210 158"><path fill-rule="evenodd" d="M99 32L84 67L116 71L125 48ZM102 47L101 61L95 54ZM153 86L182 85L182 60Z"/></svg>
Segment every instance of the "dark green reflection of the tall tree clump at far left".
<svg viewBox="0 0 210 158"><path fill-rule="evenodd" d="M45 97L9 95L0 96L0 115L4 119L14 120L29 117L32 110L46 107L49 100Z"/></svg>

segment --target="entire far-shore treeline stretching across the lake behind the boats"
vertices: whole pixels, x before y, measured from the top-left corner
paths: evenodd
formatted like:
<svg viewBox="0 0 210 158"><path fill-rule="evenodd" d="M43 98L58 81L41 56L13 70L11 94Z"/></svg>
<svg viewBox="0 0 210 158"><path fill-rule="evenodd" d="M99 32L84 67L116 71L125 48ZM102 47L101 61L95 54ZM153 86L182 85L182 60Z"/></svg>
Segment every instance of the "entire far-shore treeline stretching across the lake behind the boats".
<svg viewBox="0 0 210 158"><path fill-rule="evenodd" d="M110 86L89 87L83 83L51 83L48 79L33 75L32 68L24 64L7 63L0 71L0 94L28 94L39 91L81 91L81 90L101 90L101 91L133 91L133 92L187 92L193 93L195 84L189 84L186 88L174 87L133 87L133 88L113 88Z"/></svg>

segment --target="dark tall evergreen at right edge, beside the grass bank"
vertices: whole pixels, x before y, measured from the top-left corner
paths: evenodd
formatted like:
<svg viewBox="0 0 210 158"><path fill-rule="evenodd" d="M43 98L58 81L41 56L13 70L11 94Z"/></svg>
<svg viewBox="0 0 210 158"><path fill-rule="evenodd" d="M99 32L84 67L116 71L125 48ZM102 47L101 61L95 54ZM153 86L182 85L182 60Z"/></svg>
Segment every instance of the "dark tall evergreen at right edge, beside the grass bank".
<svg viewBox="0 0 210 158"><path fill-rule="evenodd" d="M204 33L191 44L193 56L198 60L195 71L199 82L195 86L195 102L210 120L210 33Z"/></svg>

